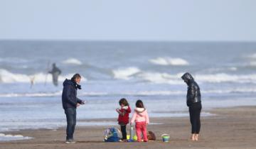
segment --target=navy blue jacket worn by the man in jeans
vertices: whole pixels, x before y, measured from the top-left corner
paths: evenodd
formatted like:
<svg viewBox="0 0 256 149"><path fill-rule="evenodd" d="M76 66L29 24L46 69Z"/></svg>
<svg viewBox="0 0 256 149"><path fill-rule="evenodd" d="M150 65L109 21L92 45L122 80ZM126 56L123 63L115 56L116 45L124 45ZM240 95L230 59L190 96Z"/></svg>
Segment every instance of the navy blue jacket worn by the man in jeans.
<svg viewBox="0 0 256 149"><path fill-rule="evenodd" d="M63 94L62 94L62 104L63 109L76 108L77 104L82 104L82 100L77 97L77 87L75 82L70 79L65 79L63 82Z"/></svg>

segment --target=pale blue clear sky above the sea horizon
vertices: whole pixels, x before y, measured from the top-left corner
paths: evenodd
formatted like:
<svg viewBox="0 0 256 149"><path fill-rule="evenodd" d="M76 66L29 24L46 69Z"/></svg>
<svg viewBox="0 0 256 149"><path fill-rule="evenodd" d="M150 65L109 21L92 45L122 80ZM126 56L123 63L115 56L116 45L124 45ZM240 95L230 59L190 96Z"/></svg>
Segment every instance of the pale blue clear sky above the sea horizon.
<svg viewBox="0 0 256 149"><path fill-rule="evenodd" d="M0 0L0 40L256 41L255 0Z"/></svg>

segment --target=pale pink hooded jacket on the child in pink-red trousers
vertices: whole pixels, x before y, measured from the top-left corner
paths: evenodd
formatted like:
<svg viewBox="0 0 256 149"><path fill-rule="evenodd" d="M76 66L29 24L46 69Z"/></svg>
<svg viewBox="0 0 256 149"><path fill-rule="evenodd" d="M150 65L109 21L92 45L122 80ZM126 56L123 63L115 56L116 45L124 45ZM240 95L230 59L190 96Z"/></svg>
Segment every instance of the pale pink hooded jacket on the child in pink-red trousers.
<svg viewBox="0 0 256 149"><path fill-rule="evenodd" d="M135 122L142 122L145 121L149 123L149 114L147 113L146 109L144 108L136 108L134 110L134 115L132 116L131 123Z"/></svg>

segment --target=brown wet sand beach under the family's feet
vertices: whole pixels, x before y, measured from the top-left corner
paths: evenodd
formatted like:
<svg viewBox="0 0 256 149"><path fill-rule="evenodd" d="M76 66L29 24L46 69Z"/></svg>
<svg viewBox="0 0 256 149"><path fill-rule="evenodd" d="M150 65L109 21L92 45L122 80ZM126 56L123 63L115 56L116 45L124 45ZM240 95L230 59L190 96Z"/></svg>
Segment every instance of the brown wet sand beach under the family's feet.
<svg viewBox="0 0 256 149"><path fill-rule="evenodd" d="M58 128L9 132L8 134L21 134L33 139L1 142L0 148L256 148L256 106L214 109L210 112L216 115L201 118L201 136L197 142L189 140L191 126L188 117L151 118L151 123L162 124L148 126L148 131L154 131L157 137L156 141L149 143L104 143L103 131L109 126L82 126L75 130L75 144L65 144L65 128ZM163 133L170 134L169 143L161 141Z"/></svg>

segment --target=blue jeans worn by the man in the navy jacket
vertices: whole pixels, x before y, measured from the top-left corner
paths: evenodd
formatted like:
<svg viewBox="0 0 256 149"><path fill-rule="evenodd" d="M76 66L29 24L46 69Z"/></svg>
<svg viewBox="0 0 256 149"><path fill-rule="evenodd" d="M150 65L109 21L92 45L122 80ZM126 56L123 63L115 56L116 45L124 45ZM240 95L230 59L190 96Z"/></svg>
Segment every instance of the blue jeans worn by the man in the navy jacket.
<svg viewBox="0 0 256 149"><path fill-rule="evenodd" d="M66 140L73 140L73 134L75 132L75 124L76 124L76 109L75 108L65 109L65 115L67 118Z"/></svg>

